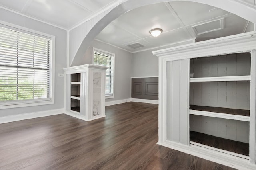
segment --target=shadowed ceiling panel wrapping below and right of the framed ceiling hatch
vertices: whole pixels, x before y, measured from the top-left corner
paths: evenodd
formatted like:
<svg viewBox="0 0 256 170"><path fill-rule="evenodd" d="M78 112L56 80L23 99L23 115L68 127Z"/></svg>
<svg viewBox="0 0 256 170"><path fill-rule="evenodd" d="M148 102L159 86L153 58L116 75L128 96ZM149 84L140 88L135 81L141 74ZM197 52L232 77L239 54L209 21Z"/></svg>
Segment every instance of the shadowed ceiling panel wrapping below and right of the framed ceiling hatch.
<svg viewBox="0 0 256 170"><path fill-rule="evenodd" d="M224 21L225 21L224 29L197 35L196 40L204 41L208 39L214 39L214 38L239 34L243 32L244 26L246 25L246 20L234 14L224 18Z"/></svg>

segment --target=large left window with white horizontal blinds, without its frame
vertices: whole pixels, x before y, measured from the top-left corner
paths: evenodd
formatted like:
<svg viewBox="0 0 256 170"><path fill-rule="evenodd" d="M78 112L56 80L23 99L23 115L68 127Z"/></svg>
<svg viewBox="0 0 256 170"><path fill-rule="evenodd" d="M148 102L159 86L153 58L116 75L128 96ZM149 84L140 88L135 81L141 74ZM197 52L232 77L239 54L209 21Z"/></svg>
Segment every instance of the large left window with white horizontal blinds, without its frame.
<svg viewBox="0 0 256 170"><path fill-rule="evenodd" d="M50 100L52 39L24 32L0 27L0 104Z"/></svg>

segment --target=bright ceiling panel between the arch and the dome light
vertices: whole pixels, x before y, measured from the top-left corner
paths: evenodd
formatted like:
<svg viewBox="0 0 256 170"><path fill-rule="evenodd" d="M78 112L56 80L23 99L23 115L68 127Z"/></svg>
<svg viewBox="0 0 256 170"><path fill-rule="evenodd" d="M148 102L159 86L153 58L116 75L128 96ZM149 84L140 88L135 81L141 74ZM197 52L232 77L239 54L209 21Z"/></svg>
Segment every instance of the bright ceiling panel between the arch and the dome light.
<svg viewBox="0 0 256 170"><path fill-rule="evenodd" d="M181 27L164 3L136 8L118 17L113 22L140 38L150 36L150 29L156 27L162 28L163 32Z"/></svg>

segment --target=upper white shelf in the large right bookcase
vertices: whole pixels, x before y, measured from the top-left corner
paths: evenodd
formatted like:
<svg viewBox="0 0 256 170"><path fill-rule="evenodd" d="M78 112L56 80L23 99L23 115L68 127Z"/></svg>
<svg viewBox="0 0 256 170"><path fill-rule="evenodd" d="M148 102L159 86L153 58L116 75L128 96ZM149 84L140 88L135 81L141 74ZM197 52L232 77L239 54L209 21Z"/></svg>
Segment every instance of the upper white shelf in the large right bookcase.
<svg viewBox="0 0 256 170"><path fill-rule="evenodd" d="M190 82L228 82L228 81L250 81L251 76L222 76L222 77L196 77L190 78Z"/></svg>

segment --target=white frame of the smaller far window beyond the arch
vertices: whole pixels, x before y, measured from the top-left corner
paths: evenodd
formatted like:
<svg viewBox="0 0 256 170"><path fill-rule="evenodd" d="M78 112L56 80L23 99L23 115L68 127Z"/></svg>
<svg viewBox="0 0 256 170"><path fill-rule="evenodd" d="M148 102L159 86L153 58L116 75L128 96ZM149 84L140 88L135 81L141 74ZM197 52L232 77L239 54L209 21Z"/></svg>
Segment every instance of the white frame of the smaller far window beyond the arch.
<svg viewBox="0 0 256 170"><path fill-rule="evenodd" d="M111 60L113 61L113 68L111 68L111 70L113 70L113 94L105 93L105 99L114 98L114 94L115 94L115 53L111 53L111 52L104 51L102 49L93 47L92 48L92 64L94 64L94 51L98 51L98 52L106 54L106 55L111 55L111 57L112 57ZM97 64L94 64L94 65L97 65ZM106 86L106 82L105 82L105 86Z"/></svg>

